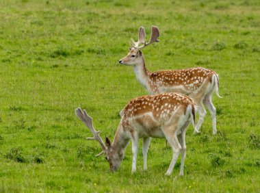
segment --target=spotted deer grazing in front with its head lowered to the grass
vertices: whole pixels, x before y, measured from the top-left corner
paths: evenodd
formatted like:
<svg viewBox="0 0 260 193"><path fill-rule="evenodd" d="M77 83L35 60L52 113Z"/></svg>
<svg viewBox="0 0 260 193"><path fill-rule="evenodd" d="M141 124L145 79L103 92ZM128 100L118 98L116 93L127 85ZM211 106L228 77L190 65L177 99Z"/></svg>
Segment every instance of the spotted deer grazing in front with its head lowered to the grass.
<svg viewBox="0 0 260 193"><path fill-rule="evenodd" d="M105 159L109 162L110 170L117 170L124 158L125 148L131 139L133 163L132 172L136 170L136 159L138 155L138 141L143 138L142 153L144 157L144 170L147 169L146 159L148 146L151 138L166 138L172 146L173 156L166 175L170 175L181 152L181 170L183 175L185 160L185 132L187 126L192 122L195 129L195 109L193 100L183 94L164 93L153 96L144 96L132 99L121 112L121 120L111 144L105 139L105 144L92 125L92 118L86 110L80 107L75 111L77 117L93 133L90 140L97 140L101 144Z"/></svg>

